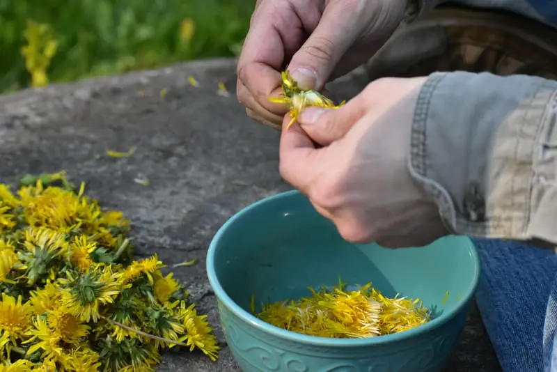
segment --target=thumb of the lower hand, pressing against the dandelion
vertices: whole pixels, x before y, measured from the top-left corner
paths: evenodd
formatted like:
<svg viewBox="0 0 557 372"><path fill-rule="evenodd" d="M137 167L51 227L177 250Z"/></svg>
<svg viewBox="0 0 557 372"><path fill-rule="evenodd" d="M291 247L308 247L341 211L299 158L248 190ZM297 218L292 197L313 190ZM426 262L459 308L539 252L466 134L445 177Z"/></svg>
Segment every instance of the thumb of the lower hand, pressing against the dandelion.
<svg viewBox="0 0 557 372"><path fill-rule="evenodd" d="M321 146L329 146L344 137L367 111L368 107L360 94L338 109L308 107L301 111L297 121L313 141Z"/></svg>

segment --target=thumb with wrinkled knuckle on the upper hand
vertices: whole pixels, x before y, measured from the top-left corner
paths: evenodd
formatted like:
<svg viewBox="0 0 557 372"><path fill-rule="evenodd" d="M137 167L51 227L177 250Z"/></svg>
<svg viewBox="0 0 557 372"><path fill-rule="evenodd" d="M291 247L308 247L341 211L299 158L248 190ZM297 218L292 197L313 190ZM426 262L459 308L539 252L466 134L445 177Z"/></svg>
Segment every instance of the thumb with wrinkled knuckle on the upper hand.
<svg viewBox="0 0 557 372"><path fill-rule="evenodd" d="M353 1L347 1L353 4ZM356 40L356 7L345 1L330 1L317 27L292 56L288 70L304 89L321 89L340 58Z"/></svg>

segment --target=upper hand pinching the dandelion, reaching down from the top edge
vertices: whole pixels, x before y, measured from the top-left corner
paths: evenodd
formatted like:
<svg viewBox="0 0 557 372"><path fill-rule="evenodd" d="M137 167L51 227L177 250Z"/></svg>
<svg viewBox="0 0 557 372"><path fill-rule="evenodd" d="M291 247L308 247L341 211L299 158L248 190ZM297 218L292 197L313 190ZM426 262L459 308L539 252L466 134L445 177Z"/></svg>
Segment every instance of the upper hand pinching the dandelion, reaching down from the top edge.
<svg viewBox="0 0 557 372"><path fill-rule="evenodd" d="M281 71L304 88L365 62L398 27L407 0L258 0L237 66L237 97L251 118L281 127Z"/></svg>

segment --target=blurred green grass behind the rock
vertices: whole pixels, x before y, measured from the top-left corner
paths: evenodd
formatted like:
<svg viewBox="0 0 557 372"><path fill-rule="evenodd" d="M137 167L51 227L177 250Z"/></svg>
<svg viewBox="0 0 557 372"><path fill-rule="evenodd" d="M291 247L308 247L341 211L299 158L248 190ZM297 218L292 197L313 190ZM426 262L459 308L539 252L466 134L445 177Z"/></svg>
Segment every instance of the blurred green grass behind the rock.
<svg viewBox="0 0 557 372"><path fill-rule="evenodd" d="M26 88L20 52L27 20L49 24L58 49L50 82L113 75L232 56L240 48L255 0L0 0L0 93ZM191 18L190 42L180 24Z"/></svg>

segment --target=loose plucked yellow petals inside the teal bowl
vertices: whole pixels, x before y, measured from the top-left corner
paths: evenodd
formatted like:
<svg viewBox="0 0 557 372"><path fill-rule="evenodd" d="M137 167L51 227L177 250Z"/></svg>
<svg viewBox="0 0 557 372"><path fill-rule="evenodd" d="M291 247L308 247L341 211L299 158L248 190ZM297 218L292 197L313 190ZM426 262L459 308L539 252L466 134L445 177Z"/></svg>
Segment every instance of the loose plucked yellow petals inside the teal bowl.
<svg viewBox="0 0 557 372"><path fill-rule="evenodd" d="M262 304L261 320L308 336L361 339L410 330L430 320L420 300L389 298L368 283L348 290L342 281L333 288L309 288L311 297Z"/></svg>

